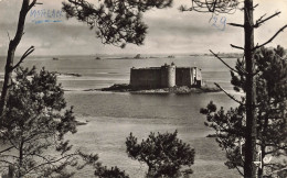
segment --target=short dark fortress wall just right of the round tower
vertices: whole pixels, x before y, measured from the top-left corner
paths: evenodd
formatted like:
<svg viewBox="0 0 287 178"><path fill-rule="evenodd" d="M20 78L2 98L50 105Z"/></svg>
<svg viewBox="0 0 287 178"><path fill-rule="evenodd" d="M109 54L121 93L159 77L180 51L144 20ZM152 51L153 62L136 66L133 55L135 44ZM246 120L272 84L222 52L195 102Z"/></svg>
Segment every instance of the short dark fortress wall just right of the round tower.
<svg viewBox="0 0 287 178"><path fill-rule="evenodd" d="M191 86L193 84L192 70L190 67L177 67L176 69L176 85Z"/></svg>

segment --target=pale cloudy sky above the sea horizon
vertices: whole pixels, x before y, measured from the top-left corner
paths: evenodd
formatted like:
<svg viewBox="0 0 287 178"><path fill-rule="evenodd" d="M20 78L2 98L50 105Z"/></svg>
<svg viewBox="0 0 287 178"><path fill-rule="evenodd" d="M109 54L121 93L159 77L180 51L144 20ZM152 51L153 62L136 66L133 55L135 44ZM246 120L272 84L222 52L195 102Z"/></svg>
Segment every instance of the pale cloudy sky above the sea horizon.
<svg viewBox="0 0 287 178"><path fill-rule="evenodd" d="M31 45L35 46L34 55L194 54L209 53L209 49L216 53L241 53L230 44L244 45L243 29L223 25L225 20L226 23L243 23L243 12L240 10L234 14L213 15L217 18L216 27L213 25L214 19L211 13L180 12L180 4L190 5L190 0L173 0L172 8L151 9L144 14L144 22L149 26L144 45L127 44L123 49L102 44L94 30L75 19L67 20L64 12L49 19L52 22L35 23L39 19L31 14L33 10L60 12L65 0L38 1L43 4L38 4L26 15L25 33L17 55L22 55ZM265 13L270 15L281 11L279 16L275 16L255 31L255 44L261 44L287 24L287 0L254 1L254 4L259 4L255 10L254 20ZM7 54L9 36L14 36L21 2L22 0L0 0L0 56ZM267 46L277 45L287 47L287 30Z"/></svg>

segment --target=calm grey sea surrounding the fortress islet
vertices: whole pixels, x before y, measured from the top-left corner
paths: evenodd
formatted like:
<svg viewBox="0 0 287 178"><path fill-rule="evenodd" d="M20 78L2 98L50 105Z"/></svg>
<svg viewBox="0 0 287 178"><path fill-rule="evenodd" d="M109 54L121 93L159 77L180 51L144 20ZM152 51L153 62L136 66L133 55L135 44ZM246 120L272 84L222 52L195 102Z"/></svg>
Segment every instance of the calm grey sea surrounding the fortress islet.
<svg viewBox="0 0 287 178"><path fill-rule="evenodd" d="M126 137L132 133L138 141L147 138L150 132L166 133L178 131L178 137L195 149L194 164L191 166L194 178L231 178L241 177L234 169L228 169L225 152L212 137L214 133L204 126L205 116L200 109L210 101L217 107L230 109L236 107L224 92L190 94L139 94L129 92L98 91L114 84L129 84L131 67L159 67L172 62L179 67L199 67L204 82L213 87L217 82L231 94L231 75L227 67L213 56L153 55L142 59L119 55L100 56L31 56L22 64L57 71L57 80L65 89L68 107L74 105L76 119L87 122L79 125L76 134L67 140L74 148L85 153L98 154L99 162L107 167L117 166L131 178L142 178L148 168L144 163L134 160L126 153ZM0 80L3 80L4 57L0 57ZM15 59L17 62L18 59ZM236 58L225 62L235 66ZM94 177L94 169L86 167L75 177Z"/></svg>

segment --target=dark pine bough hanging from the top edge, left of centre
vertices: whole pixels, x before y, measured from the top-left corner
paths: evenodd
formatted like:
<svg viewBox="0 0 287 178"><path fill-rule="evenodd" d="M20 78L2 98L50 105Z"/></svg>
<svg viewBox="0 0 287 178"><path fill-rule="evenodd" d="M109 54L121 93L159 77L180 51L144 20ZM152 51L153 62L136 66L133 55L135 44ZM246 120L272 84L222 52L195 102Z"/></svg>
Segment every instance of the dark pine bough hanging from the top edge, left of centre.
<svg viewBox="0 0 287 178"><path fill-rule="evenodd" d="M104 0L95 4L86 0L63 2L67 18L86 22L91 29L96 27L96 35L104 44L125 47L126 43L141 45L148 26L142 22L142 12L151 8L163 9L172 0Z"/></svg>

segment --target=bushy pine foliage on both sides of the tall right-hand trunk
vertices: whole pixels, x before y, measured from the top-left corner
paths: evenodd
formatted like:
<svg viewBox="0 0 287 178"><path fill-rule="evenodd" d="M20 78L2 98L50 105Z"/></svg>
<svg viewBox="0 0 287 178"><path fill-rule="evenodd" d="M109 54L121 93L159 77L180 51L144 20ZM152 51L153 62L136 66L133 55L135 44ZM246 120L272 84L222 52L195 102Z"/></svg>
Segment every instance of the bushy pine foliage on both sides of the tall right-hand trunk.
<svg viewBox="0 0 287 178"><path fill-rule="evenodd" d="M283 47L262 47L255 53L256 68L256 154L258 177L286 174L287 170L287 58ZM235 68L244 68L237 60ZM246 77L243 73L231 71L232 84L237 92L246 91ZM242 97L242 101L245 97ZM243 102L244 103L244 102ZM206 114L205 124L216 132L216 141L226 151L228 168L242 173L244 166L244 138L246 137L246 105L240 104L225 111L210 102L201 113Z"/></svg>

